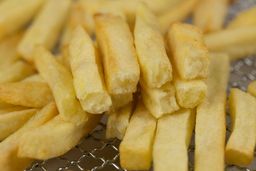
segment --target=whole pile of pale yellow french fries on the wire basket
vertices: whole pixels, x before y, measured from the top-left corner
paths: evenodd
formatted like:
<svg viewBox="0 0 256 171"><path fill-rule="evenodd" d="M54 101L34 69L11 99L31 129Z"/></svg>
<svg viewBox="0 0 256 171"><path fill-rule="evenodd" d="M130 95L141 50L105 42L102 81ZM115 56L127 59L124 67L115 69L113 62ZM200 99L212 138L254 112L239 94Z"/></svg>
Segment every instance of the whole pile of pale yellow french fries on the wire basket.
<svg viewBox="0 0 256 171"><path fill-rule="evenodd" d="M224 26L230 3L2 0L0 170L63 155L103 114L123 169L187 171L193 132L195 171L249 165L256 81L230 90L227 143L226 90L230 61L256 54L256 7Z"/></svg>

